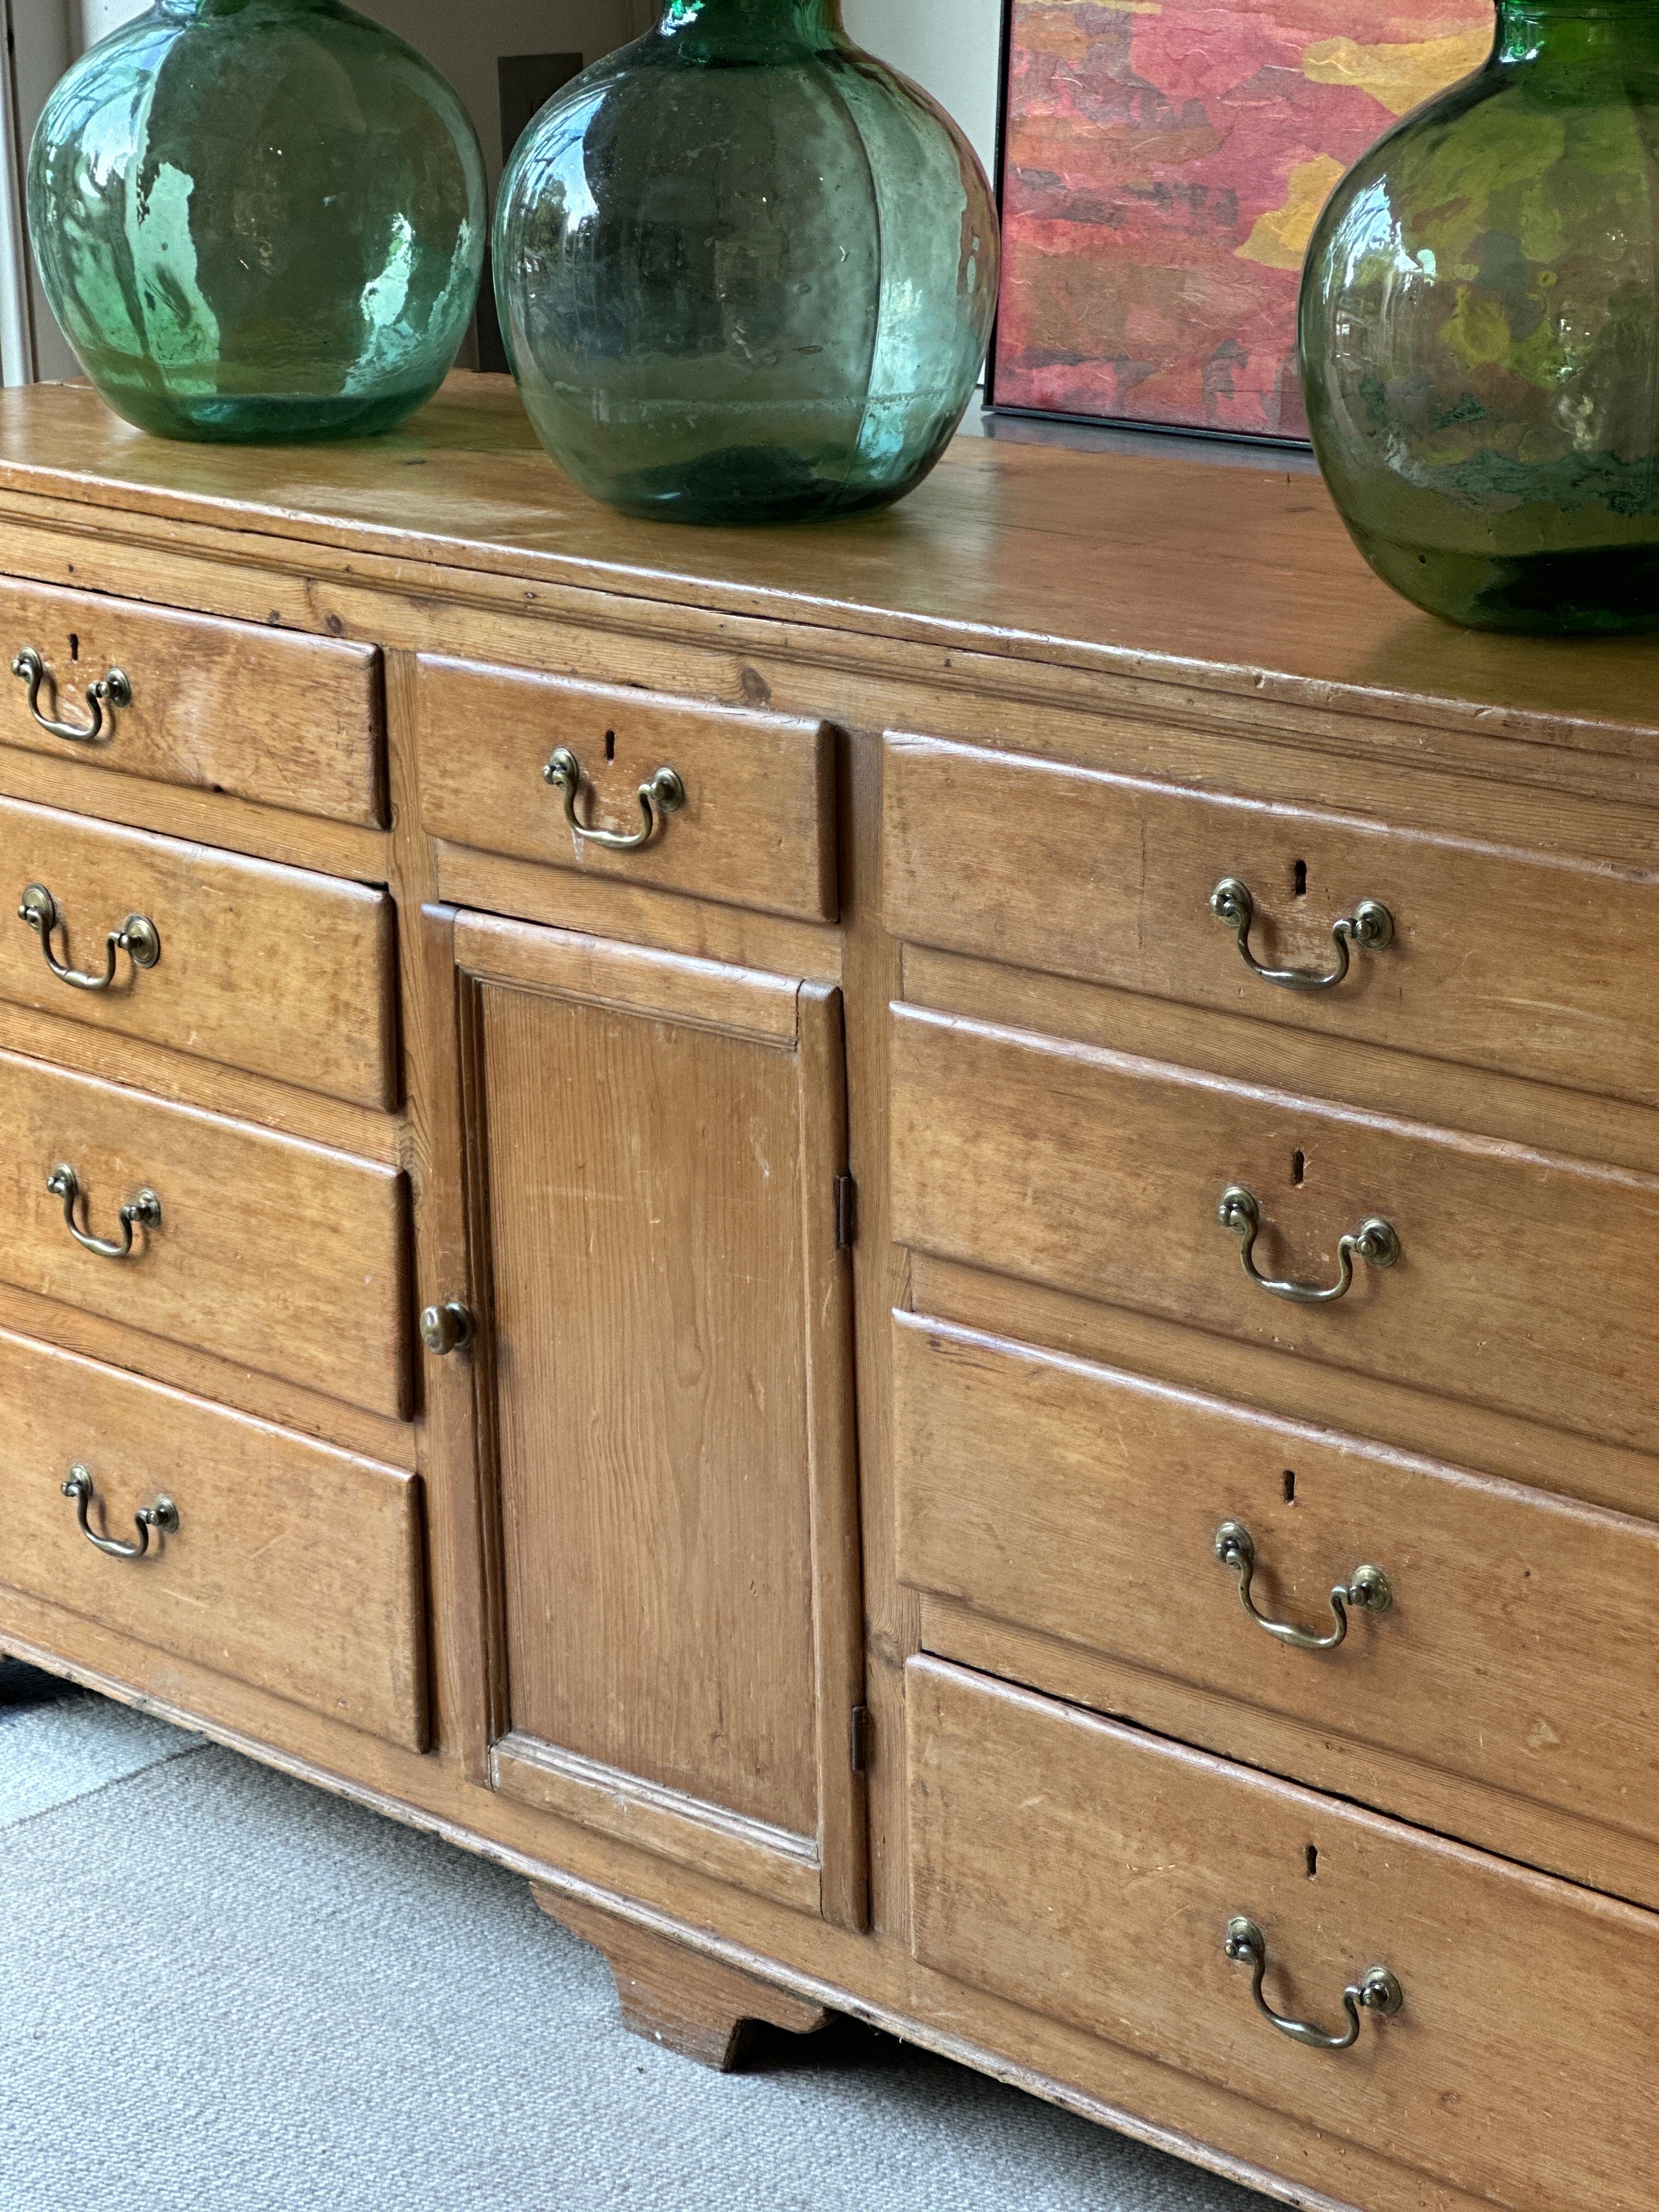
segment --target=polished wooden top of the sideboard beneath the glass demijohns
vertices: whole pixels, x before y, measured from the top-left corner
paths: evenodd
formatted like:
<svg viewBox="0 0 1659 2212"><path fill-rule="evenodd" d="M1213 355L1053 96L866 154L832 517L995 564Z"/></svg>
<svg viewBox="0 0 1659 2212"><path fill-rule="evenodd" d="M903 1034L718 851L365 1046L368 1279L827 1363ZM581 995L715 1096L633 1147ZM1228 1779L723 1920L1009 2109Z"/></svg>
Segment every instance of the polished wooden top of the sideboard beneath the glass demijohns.
<svg viewBox="0 0 1659 2212"><path fill-rule="evenodd" d="M686 529L580 493L507 378L458 374L405 429L325 447L168 445L84 385L0 396L0 495L217 524L927 648L1093 668L1484 737L1659 750L1659 635L1489 637L1420 615L1318 478L958 438L900 507Z"/></svg>

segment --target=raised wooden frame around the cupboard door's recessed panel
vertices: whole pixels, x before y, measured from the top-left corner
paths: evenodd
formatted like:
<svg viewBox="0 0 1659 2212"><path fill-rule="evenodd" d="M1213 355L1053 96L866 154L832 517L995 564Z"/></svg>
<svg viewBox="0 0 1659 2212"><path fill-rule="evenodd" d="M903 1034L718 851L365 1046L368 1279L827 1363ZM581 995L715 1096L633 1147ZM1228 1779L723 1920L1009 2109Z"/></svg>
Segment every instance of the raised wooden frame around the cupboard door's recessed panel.
<svg viewBox="0 0 1659 2212"><path fill-rule="evenodd" d="M863 1544L854 1400L852 1252L843 1239L847 1066L834 984L737 969L611 938L422 909L427 1040L440 1097L422 1190L420 1276L429 1303L462 1296L476 1340L427 1363L440 1710L469 1781L825 1920L869 1924ZM812 1542L812 1677L818 1827L790 1836L728 1807L513 1736L507 1681L495 1316L489 1237L489 987L750 1035L796 1057L801 1259ZM465 1290L460 1287L465 1285Z"/></svg>

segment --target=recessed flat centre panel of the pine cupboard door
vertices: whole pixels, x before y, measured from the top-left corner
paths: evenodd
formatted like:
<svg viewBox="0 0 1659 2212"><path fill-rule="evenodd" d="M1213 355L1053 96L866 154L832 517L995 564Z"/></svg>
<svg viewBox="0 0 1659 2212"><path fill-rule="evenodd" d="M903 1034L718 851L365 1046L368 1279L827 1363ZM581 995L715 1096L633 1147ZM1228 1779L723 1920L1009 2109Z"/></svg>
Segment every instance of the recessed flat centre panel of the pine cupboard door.
<svg viewBox="0 0 1659 2212"><path fill-rule="evenodd" d="M484 1035L513 1723L812 1834L794 1057L498 991Z"/></svg>

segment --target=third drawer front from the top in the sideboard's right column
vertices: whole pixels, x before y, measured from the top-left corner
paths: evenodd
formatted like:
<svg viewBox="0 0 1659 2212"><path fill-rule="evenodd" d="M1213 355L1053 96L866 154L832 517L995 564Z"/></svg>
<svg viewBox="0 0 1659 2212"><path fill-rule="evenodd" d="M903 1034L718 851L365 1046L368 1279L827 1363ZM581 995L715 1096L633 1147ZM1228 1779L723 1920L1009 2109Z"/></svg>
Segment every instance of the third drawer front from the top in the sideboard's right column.
<svg viewBox="0 0 1659 2212"><path fill-rule="evenodd" d="M918 1588L1659 1838L1659 1526L911 1314L894 1387ZM1214 1557L1228 1520L1272 1619L1327 1635L1360 1564L1391 1608L1276 1644Z"/></svg>

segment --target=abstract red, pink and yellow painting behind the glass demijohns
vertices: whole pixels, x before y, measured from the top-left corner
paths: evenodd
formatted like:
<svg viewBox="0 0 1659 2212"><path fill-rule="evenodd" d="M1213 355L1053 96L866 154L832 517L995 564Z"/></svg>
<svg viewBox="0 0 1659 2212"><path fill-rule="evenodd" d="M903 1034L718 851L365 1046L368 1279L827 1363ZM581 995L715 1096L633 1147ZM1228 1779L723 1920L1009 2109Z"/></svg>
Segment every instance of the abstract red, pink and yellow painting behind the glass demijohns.
<svg viewBox="0 0 1659 2212"><path fill-rule="evenodd" d="M1013 0L995 405L1307 436L1318 210L1491 38L1491 0Z"/></svg>

